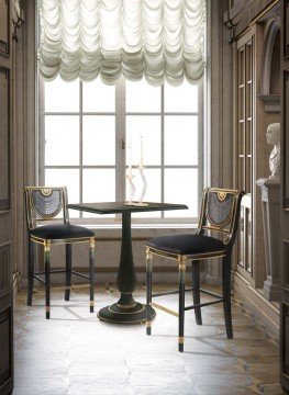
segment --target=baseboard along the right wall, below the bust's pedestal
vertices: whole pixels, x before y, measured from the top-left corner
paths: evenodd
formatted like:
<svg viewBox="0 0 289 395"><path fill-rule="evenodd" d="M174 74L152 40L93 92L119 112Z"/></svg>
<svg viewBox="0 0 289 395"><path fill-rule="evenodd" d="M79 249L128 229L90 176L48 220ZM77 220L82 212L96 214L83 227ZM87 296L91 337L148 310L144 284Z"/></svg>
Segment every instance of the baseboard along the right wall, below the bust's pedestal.
<svg viewBox="0 0 289 395"><path fill-rule="evenodd" d="M249 282L240 273L233 273L233 290L236 296L266 330L279 339L280 311L273 303L268 302L262 293L256 291Z"/></svg>

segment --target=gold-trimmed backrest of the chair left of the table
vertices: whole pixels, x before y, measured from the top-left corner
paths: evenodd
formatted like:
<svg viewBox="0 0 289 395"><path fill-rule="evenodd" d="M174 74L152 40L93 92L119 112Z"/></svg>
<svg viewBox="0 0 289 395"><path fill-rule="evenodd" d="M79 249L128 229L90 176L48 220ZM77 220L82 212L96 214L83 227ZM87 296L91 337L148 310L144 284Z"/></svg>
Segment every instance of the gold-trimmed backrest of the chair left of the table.
<svg viewBox="0 0 289 395"><path fill-rule="evenodd" d="M24 187L24 193L29 229L44 221L69 223L66 187Z"/></svg>

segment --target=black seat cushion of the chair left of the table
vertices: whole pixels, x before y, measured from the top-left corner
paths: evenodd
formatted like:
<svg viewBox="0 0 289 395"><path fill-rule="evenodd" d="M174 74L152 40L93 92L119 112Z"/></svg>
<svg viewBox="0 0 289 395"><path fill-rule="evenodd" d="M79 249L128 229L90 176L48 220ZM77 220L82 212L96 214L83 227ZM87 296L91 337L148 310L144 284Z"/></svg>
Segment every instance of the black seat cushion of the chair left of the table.
<svg viewBox="0 0 289 395"><path fill-rule="evenodd" d="M31 236L35 236L44 240L57 240L93 237L95 233L84 226L56 224L40 226L31 230Z"/></svg>

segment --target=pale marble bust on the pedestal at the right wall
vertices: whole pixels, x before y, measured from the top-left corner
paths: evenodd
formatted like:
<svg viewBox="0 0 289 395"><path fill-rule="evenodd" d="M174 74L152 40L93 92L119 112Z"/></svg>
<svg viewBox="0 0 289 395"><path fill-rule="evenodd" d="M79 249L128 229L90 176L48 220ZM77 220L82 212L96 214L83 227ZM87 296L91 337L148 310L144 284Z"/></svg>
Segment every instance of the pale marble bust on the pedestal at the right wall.
<svg viewBox="0 0 289 395"><path fill-rule="evenodd" d="M273 123L267 127L267 144L274 145L269 157L270 179L280 176L280 124Z"/></svg>

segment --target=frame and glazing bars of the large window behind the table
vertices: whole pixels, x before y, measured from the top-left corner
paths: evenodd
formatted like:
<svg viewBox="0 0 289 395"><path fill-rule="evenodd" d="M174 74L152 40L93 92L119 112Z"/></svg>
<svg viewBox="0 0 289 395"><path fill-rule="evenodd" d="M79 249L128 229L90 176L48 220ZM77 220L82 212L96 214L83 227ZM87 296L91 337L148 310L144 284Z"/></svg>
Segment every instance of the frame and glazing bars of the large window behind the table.
<svg viewBox="0 0 289 395"><path fill-rule="evenodd" d="M44 94L44 80L43 78L37 76L37 105L36 105L36 114L38 114L38 123L37 123L37 139L38 139L38 183L44 184L45 179L45 169L46 168L55 168L55 169L69 169L77 168L79 169L79 196L80 201L82 201L82 169L84 168L113 168L115 169L115 199L116 201L123 201L123 196L125 196L125 119L126 116L160 116L160 127L162 127L162 162L160 166L146 166L149 169L160 169L162 173L162 200L164 199L164 169L165 168L197 168L198 169L198 208L201 203L201 195L204 185L204 158L207 157L207 145L205 145L205 136L204 136L204 82L201 81L198 86L198 112L165 112L164 111L164 86L160 87L160 112L126 112L125 111L125 80L124 78L120 78L115 84L115 112L85 112L82 111L82 81L79 81L79 109L78 112L45 112L45 94ZM45 115L77 115L79 116L79 133L80 133L80 142L79 142L79 166L45 166ZM82 117L86 115L114 115L115 116L115 166L85 166L82 163ZM197 115L198 116L198 165L197 166L164 166L164 120L166 115ZM68 191L69 192L69 191ZM69 198L69 195L68 195ZM70 202L73 203L73 202ZM136 226L146 226L146 225L159 225L162 226L177 226L186 224L196 225L198 223L197 217L178 217L178 212L176 212L176 217L164 217L164 213L162 212L159 218L134 218L132 216L132 224ZM109 218L105 216L96 216L96 217L82 217L82 213L80 212L79 218L71 218L74 223L82 223L87 225L109 225L109 224L118 224L121 222L121 215L116 214L114 218Z"/></svg>

